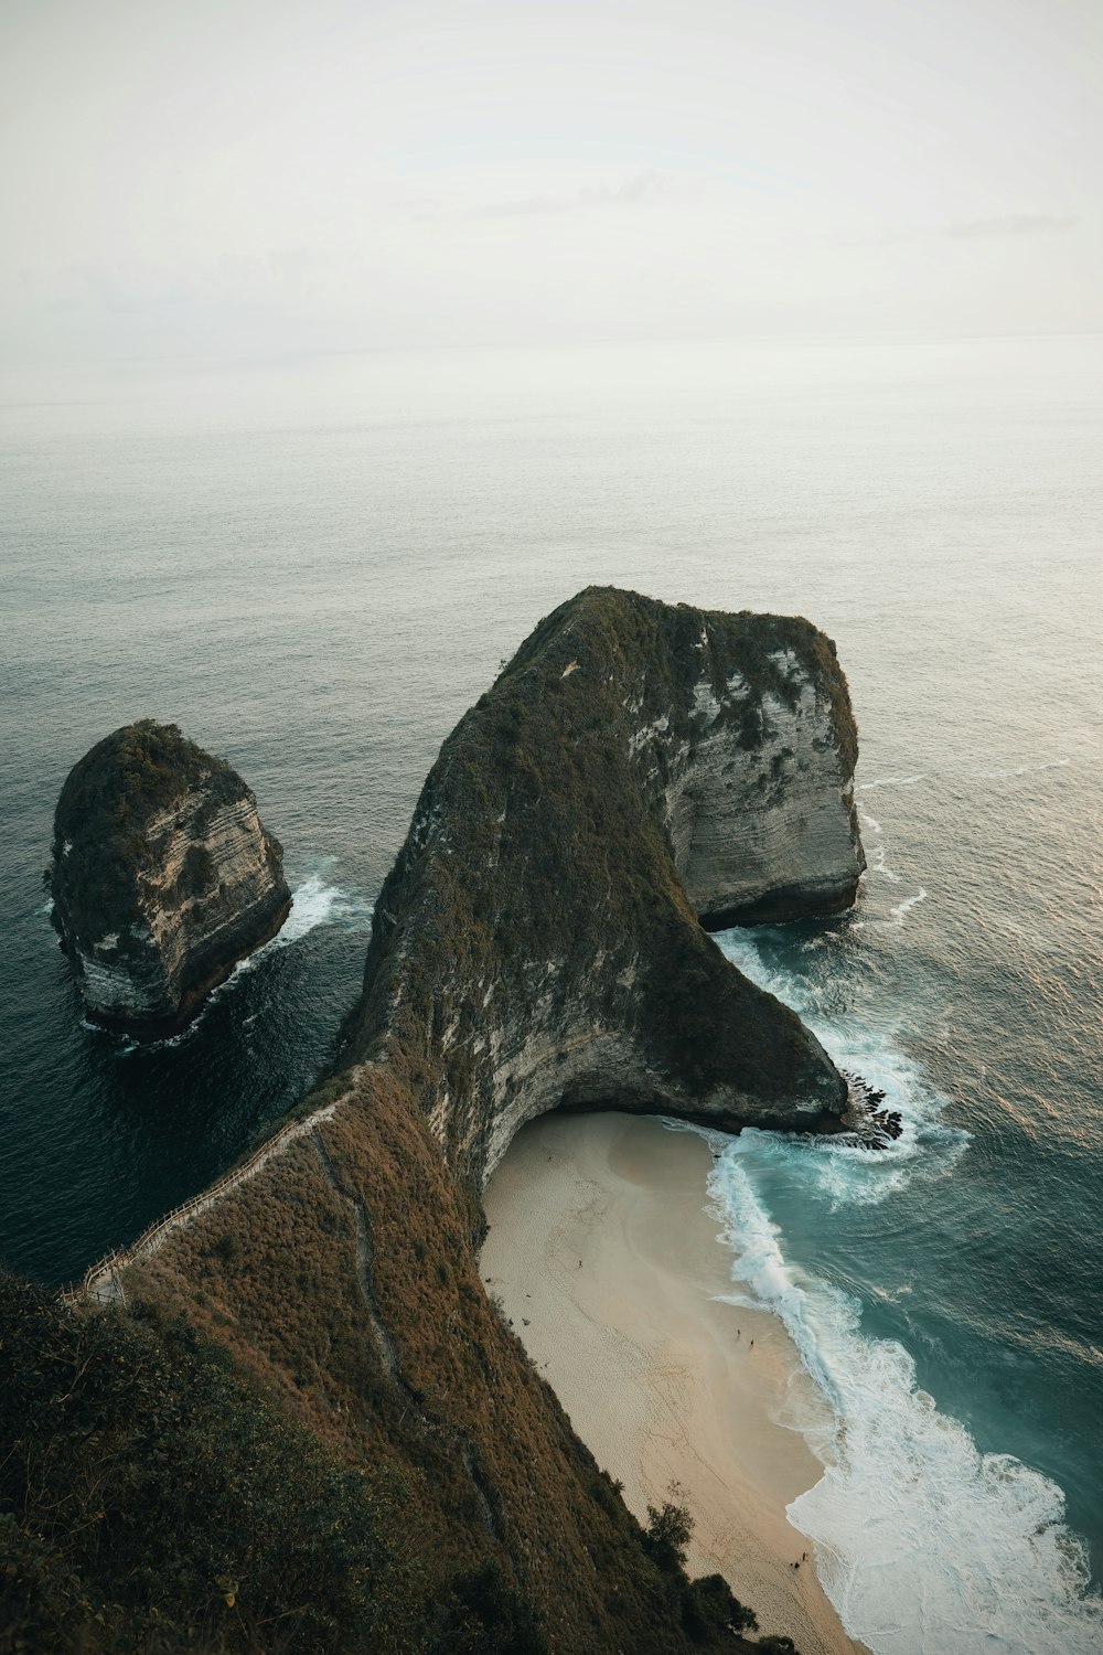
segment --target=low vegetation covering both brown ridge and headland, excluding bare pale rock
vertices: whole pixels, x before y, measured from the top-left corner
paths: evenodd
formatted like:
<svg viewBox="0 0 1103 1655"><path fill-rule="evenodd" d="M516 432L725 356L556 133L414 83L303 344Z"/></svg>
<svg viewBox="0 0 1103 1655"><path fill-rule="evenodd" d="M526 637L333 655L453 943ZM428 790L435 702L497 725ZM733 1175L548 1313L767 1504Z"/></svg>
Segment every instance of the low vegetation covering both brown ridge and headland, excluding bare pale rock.
<svg viewBox="0 0 1103 1655"><path fill-rule="evenodd" d="M418 1582L402 1645L412 1655L539 1655L544 1637L559 1655L752 1648L701 1633L708 1594L691 1602L676 1559L657 1561L488 1301L476 1188L494 1082L488 1023L524 1023L526 962L557 962L552 1023L564 1028L589 985L585 1016L638 1039L665 1077L665 1107L681 1099L691 1112L733 1074L767 1102L794 1081L830 1091L833 1071L820 1072L792 1013L696 925L660 808L670 753L700 735L701 667L721 700L736 669L751 684L754 705L728 697L721 717L734 746L752 746L766 690L795 693L781 650L832 700L840 770L852 765L845 680L804 621L590 589L541 622L425 784L346 1031L346 1061L361 1067L296 1111L341 1097L337 1114L126 1271L131 1302L220 1352L261 1412L275 1405L334 1463L397 1491L392 1537L400 1524ZM652 770L630 763L632 733L661 717L670 743L655 745ZM642 993L618 988L637 960L648 962ZM430 1114L445 1122L440 1140ZM205 1428L217 1442L218 1420ZM470 1632L460 1592L521 1605L521 1630ZM98 1637L83 1647L111 1647Z"/></svg>

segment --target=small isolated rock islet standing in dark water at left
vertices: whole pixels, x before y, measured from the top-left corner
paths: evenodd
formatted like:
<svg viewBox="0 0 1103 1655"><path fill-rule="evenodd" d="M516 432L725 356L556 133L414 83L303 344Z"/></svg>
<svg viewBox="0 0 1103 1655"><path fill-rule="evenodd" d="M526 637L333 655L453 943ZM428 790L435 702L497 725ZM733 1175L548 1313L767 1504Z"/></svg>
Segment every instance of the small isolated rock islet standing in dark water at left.
<svg viewBox="0 0 1103 1655"><path fill-rule="evenodd" d="M69 771L50 882L84 1005L137 1036L184 1028L291 909L253 793L152 718L98 741Z"/></svg>

